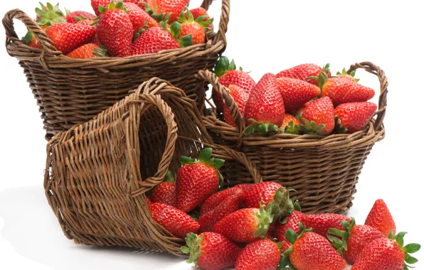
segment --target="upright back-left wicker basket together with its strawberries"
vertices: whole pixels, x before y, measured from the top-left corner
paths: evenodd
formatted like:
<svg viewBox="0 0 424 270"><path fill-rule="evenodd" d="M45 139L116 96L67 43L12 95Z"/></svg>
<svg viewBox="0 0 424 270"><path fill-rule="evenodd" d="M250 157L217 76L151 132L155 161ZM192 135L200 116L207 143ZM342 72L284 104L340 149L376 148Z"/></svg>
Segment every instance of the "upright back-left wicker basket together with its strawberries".
<svg viewBox="0 0 424 270"><path fill-rule="evenodd" d="M19 60L40 107L46 139L82 124L152 77L184 90L198 70L211 70L226 49L230 0L222 1L216 33L212 0L92 0L94 12L41 4L32 19L6 13L6 50ZM23 38L14 19L28 28ZM194 98L194 92L187 92Z"/></svg>

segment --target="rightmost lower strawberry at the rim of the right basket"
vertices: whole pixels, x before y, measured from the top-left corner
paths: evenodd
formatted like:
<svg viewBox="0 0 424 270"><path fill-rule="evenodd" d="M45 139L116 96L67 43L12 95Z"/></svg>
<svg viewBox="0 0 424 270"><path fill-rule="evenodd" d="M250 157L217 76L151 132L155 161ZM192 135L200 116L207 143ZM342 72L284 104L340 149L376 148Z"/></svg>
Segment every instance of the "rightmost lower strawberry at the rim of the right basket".
<svg viewBox="0 0 424 270"><path fill-rule="evenodd" d="M335 113L339 117L339 124L348 133L354 133L365 129L376 110L377 105L372 102L351 102L337 106Z"/></svg>

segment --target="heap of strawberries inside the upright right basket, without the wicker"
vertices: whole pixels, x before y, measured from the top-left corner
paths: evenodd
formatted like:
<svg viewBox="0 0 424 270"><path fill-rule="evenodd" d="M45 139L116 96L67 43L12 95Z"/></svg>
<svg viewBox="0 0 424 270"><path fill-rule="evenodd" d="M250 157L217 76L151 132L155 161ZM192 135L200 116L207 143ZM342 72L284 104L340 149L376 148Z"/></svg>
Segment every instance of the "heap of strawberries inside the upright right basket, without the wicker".
<svg viewBox="0 0 424 270"><path fill-rule="evenodd" d="M228 87L247 128L244 134L354 133L364 129L376 112L368 102L375 92L359 84L354 72L332 76L329 65L297 65L274 75L267 73L255 83L234 61L222 57L215 68L218 82ZM227 124L235 126L228 107L217 91L212 92L218 112Z"/></svg>

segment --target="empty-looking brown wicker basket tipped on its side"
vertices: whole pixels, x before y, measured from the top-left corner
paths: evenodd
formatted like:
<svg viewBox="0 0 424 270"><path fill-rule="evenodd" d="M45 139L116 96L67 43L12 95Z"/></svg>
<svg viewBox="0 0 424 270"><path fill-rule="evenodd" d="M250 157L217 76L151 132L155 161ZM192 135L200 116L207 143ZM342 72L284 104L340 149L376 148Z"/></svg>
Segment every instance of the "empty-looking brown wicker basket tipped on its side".
<svg viewBox="0 0 424 270"><path fill-rule="evenodd" d="M179 254L184 240L151 220L145 200L169 169L180 168L179 156L196 157L201 146L212 146L214 156L250 171L245 181L262 181L243 153L211 142L196 103L153 78L95 119L49 141L46 197L75 243ZM230 169L222 171L224 178Z"/></svg>

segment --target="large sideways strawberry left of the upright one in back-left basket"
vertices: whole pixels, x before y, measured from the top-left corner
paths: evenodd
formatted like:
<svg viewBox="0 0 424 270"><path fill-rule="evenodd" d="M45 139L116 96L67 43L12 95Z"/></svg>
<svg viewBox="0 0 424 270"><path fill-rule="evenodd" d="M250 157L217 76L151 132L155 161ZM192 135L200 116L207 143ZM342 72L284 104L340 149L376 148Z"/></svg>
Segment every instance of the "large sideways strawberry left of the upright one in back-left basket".
<svg viewBox="0 0 424 270"><path fill-rule="evenodd" d="M76 48L89 43L95 36L95 27L76 23L55 23L46 30L55 48L67 55Z"/></svg>

